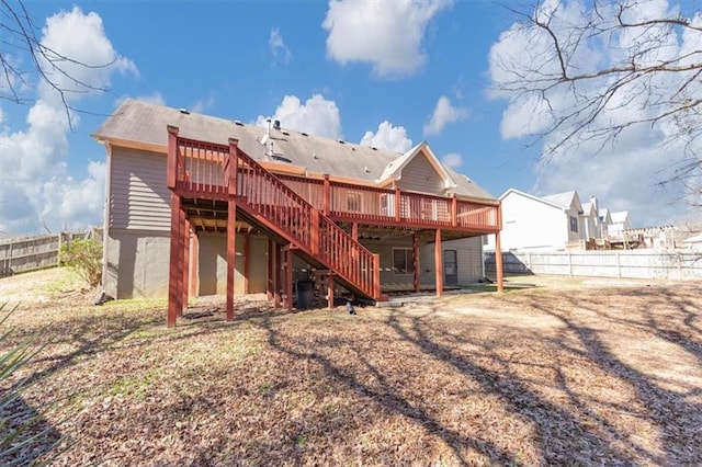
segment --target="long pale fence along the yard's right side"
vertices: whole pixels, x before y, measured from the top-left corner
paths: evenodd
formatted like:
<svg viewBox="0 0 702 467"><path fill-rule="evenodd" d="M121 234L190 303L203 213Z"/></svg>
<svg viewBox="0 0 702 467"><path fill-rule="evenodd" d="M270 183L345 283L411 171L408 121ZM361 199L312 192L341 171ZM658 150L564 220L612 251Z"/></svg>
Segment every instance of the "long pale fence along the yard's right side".
<svg viewBox="0 0 702 467"><path fill-rule="evenodd" d="M495 253L485 253L485 272L495 273ZM502 252L506 274L553 274L618 278L702 280L702 252L624 250Z"/></svg>

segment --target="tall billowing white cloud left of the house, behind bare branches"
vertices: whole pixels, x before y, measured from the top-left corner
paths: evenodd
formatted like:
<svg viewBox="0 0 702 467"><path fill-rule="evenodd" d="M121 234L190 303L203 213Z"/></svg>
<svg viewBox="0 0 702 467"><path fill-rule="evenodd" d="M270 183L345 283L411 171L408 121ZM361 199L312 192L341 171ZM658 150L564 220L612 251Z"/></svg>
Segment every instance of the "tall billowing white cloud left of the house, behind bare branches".
<svg viewBox="0 0 702 467"><path fill-rule="evenodd" d="M120 56L105 36L97 13L83 14L75 7L46 20L42 44L57 56L70 79L49 64L42 67L66 100L76 103L98 89L110 87L115 72L136 73L134 64ZM83 64L84 66L81 66ZM87 227L102 221L104 164L90 162L88 178L68 174L67 135L69 116L57 93L39 81L34 105L26 116L26 128L0 135L0 231L30 234L43 229ZM78 115L71 115L73 126Z"/></svg>

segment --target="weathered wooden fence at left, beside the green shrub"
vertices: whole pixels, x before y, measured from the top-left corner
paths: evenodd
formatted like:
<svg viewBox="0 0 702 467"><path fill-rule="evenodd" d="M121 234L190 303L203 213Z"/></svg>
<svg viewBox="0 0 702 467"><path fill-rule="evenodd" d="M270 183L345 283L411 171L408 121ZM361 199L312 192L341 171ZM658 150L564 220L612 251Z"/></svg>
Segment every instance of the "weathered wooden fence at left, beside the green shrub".
<svg viewBox="0 0 702 467"><path fill-rule="evenodd" d="M94 230L0 240L0 277L57 266L63 243L93 237Z"/></svg>

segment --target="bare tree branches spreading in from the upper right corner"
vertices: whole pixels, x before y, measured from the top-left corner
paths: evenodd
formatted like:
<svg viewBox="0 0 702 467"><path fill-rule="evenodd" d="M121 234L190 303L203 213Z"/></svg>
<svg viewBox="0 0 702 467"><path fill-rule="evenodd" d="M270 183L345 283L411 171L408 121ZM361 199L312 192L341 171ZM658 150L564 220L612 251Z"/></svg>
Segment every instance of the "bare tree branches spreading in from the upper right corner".
<svg viewBox="0 0 702 467"><path fill-rule="evenodd" d="M546 160L574 146L601 150L637 126L658 132L682 152L671 158L660 183L687 184L699 203L702 15L660 3L554 0L524 10L506 7L518 22L502 37L508 46L492 52L499 68L492 81L511 104L530 109L528 133L544 143Z"/></svg>

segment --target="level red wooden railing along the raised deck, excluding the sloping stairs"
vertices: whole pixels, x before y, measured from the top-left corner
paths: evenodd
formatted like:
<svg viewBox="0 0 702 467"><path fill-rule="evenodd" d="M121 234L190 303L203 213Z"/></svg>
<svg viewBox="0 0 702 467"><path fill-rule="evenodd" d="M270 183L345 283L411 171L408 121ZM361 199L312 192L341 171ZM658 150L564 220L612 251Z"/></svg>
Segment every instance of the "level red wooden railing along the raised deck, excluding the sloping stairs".
<svg viewBox="0 0 702 467"><path fill-rule="evenodd" d="M174 148L177 157L169 161L174 164L169 169L169 186L193 196L226 198L224 164L227 153L222 150L228 150L228 147L181 137L178 141L178 148ZM275 176L298 197L336 220L476 232L495 232L500 228L497 203L354 185L328 178Z"/></svg>

